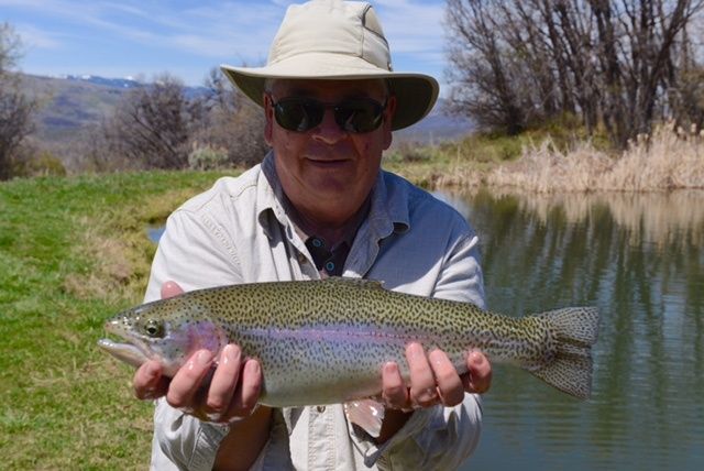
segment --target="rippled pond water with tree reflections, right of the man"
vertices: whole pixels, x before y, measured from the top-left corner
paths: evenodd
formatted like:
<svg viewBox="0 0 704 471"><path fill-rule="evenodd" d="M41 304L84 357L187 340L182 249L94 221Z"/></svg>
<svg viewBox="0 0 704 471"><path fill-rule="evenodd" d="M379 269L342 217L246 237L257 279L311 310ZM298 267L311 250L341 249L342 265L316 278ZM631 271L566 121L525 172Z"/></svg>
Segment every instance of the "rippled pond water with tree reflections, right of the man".
<svg viewBox="0 0 704 471"><path fill-rule="evenodd" d="M439 196L480 233L493 309L603 319L587 403L496 366L468 469L702 469L704 194Z"/></svg>

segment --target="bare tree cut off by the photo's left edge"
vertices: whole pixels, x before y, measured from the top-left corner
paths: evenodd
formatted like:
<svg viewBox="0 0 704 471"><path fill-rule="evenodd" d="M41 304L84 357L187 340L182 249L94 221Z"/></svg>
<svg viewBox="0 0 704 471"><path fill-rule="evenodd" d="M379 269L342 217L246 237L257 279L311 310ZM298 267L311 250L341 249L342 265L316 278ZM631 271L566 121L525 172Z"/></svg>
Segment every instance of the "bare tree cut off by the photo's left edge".
<svg viewBox="0 0 704 471"><path fill-rule="evenodd" d="M16 151L33 129L35 103L20 91L20 77L12 72L19 55L19 36L9 24L0 24L0 180L12 175Z"/></svg>

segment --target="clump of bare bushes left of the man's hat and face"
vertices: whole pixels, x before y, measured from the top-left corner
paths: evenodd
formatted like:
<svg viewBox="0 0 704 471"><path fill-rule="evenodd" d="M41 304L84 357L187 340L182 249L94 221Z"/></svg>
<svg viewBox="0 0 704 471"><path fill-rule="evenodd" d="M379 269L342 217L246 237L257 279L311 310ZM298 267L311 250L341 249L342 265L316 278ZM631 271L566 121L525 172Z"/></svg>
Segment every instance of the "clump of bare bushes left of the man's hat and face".
<svg viewBox="0 0 704 471"><path fill-rule="evenodd" d="M131 90L101 129L85 152L100 171L252 165L267 151L261 108L218 69L190 98L169 76Z"/></svg>

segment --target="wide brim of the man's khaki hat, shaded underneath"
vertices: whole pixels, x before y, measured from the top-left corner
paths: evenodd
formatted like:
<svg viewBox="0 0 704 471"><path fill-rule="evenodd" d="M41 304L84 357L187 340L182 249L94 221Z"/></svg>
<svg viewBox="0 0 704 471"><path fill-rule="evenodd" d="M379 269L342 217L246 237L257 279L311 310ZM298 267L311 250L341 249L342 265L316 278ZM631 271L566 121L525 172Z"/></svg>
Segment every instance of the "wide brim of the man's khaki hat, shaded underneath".
<svg viewBox="0 0 704 471"><path fill-rule="evenodd" d="M429 75L389 72L355 57L324 53L299 54L265 67L221 65L220 68L235 87L258 106L264 105L264 83L267 78L385 79L396 96L396 112L392 121L394 131L407 128L428 114L438 99L440 89L438 81Z"/></svg>

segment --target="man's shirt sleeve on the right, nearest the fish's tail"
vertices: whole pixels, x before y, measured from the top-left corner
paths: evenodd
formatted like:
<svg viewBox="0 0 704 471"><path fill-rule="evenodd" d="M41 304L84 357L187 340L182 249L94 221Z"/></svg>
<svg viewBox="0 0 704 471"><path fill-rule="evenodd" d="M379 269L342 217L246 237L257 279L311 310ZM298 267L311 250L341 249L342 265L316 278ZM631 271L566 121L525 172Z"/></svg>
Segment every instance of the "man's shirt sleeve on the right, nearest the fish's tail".
<svg viewBox="0 0 704 471"><path fill-rule="evenodd" d="M432 296L485 307L479 239L471 229L448 248ZM446 470L457 469L472 454L481 428L481 398L476 394L464 394L463 402L454 407L416 410L400 430L381 446L365 434L358 435L352 427L350 436L367 467Z"/></svg>

